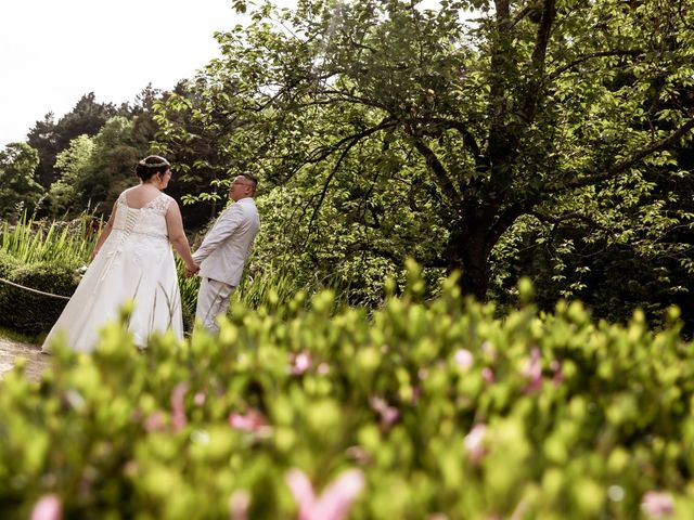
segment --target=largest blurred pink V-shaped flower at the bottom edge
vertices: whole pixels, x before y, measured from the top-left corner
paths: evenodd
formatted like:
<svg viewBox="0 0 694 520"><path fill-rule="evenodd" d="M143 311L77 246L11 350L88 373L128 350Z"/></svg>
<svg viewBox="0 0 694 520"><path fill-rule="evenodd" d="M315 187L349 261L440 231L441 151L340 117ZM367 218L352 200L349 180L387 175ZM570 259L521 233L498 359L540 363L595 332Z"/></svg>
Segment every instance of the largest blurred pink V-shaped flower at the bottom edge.
<svg viewBox="0 0 694 520"><path fill-rule="evenodd" d="M300 469L291 469L286 483L298 506L298 520L343 520L364 485L360 470L348 469L331 483L320 497L313 485Z"/></svg>

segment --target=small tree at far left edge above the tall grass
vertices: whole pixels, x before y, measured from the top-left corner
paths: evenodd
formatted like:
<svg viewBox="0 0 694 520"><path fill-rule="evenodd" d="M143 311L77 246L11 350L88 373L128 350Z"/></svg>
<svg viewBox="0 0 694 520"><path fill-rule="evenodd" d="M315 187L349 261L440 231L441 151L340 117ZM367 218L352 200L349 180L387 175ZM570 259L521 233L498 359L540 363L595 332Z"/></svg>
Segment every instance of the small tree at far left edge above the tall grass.
<svg viewBox="0 0 694 520"><path fill-rule="evenodd" d="M10 143L0 151L0 217L16 219L24 210L34 211L41 186L34 179L39 156L26 143Z"/></svg>

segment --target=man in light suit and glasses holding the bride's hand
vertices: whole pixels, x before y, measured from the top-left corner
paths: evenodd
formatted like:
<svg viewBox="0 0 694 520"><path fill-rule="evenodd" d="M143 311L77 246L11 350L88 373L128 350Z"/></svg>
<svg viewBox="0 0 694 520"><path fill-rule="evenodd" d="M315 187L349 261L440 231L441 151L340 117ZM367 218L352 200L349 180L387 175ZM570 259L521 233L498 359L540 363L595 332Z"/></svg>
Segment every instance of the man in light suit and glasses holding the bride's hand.
<svg viewBox="0 0 694 520"><path fill-rule="evenodd" d="M229 198L235 204L221 212L193 253L202 278L195 317L213 334L219 332L217 316L227 314L229 297L241 281L253 240L260 227L260 218L253 199L257 186L258 180L250 173L240 173L233 180L229 187ZM185 270L187 276L193 274L194 271Z"/></svg>

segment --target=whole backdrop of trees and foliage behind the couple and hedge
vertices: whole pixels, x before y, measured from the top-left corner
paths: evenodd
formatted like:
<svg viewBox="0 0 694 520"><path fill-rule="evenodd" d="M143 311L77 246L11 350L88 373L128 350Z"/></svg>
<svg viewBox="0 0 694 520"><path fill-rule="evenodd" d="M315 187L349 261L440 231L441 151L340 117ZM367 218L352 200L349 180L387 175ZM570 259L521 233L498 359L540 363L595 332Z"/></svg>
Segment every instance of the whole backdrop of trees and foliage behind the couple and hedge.
<svg viewBox="0 0 694 520"><path fill-rule="evenodd" d="M164 153L193 243L259 174L258 274L374 307L413 257L429 295L457 269L505 312L527 275L543 309L677 303L692 334L690 3L239 1L248 23L172 91L86 94L9 143L0 213L104 217Z"/></svg>

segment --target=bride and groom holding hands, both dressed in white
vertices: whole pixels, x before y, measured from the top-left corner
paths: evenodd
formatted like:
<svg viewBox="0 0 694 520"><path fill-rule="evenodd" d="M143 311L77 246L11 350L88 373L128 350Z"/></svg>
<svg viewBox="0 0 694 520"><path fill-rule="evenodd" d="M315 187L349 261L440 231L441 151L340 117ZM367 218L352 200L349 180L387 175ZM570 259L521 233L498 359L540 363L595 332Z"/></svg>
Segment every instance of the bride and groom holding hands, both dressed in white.
<svg viewBox="0 0 694 520"><path fill-rule="evenodd" d="M136 166L140 184L123 192L113 206L92 253L91 263L63 313L47 336L42 350L63 336L80 352L92 351L103 325L118 318L132 300L128 330L144 348L153 333L171 330L183 337L181 295L171 246L185 264L185 276L202 278L195 318L215 334L217 316L229 309L229 298L241 281L260 219L254 203L257 180L241 173L231 183L234 202L217 219L193 253L183 231L181 211L164 194L171 165L150 155Z"/></svg>

